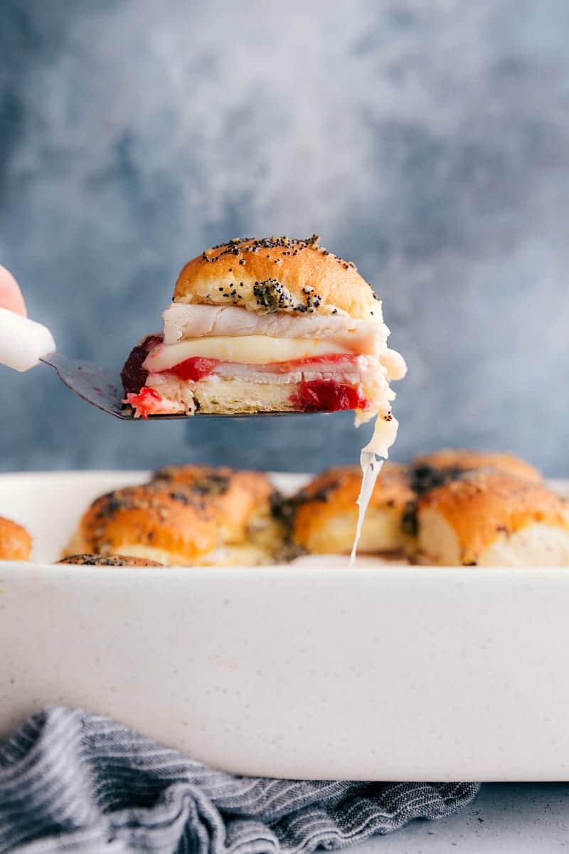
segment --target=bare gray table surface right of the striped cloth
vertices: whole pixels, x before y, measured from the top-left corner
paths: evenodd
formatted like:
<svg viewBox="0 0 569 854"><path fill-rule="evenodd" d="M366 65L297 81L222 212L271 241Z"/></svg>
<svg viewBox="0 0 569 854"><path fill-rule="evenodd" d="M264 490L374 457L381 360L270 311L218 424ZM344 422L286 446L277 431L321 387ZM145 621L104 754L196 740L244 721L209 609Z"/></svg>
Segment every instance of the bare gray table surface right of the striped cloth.
<svg viewBox="0 0 569 854"><path fill-rule="evenodd" d="M549 854L569 851L569 784L487 783L441 822L414 822L358 845L357 854Z"/></svg>

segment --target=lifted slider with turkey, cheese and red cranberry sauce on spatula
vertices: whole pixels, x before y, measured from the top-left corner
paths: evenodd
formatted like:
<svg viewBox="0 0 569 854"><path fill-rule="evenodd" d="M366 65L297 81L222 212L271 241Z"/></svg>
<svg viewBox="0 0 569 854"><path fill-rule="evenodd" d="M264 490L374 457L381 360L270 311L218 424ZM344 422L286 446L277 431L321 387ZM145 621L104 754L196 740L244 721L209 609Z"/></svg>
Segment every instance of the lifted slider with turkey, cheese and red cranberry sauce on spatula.
<svg viewBox="0 0 569 854"><path fill-rule="evenodd" d="M231 240L183 267L164 332L126 361L125 402L142 418L353 409L391 444L406 369L388 335L369 284L316 236Z"/></svg>

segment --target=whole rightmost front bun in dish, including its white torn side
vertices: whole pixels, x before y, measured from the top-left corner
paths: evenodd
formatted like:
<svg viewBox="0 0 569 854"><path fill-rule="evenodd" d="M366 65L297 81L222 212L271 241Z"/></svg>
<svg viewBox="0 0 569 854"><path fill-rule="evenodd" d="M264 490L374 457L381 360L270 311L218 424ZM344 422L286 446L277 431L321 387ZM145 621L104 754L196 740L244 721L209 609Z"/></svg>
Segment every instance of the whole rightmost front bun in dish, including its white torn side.
<svg viewBox="0 0 569 854"><path fill-rule="evenodd" d="M421 563L569 566L569 506L540 483L474 471L419 500Z"/></svg>

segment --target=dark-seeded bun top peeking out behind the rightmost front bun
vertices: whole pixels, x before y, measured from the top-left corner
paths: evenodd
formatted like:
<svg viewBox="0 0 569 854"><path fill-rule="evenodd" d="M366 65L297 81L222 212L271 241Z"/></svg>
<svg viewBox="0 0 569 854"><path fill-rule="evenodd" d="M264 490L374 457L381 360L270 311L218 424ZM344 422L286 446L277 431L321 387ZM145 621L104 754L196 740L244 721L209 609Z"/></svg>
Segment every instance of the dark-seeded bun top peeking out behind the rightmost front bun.
<svg viewBox="0 0 569 854"><path fill-rule="evenodd" d="M465 471L488 469L504 474L524 477L532 483L541 483L543 478L533 465L513 453L486 453L464 448L443 448L433 453L421 454L411 463L412 481L415 491L423 494L428 489L447 483Z"/></svg>

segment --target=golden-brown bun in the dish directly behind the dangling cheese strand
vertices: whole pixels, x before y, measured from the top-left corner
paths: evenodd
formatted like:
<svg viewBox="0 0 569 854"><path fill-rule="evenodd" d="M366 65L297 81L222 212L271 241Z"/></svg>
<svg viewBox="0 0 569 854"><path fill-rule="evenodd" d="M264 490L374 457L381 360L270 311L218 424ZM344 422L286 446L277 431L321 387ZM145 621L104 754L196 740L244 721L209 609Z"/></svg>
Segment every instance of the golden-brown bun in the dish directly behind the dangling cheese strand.
<svg viewBox="0 0 569 854"><path fill-rule="evenodd" d="M293 500L294 542L311 553L351 552L361 485L359 466L330 469L315 477ZM358 552L407 549L411 538L405 534L402 521L413 500L415 493L404 468L384 463L369 501Z"/></svg>

